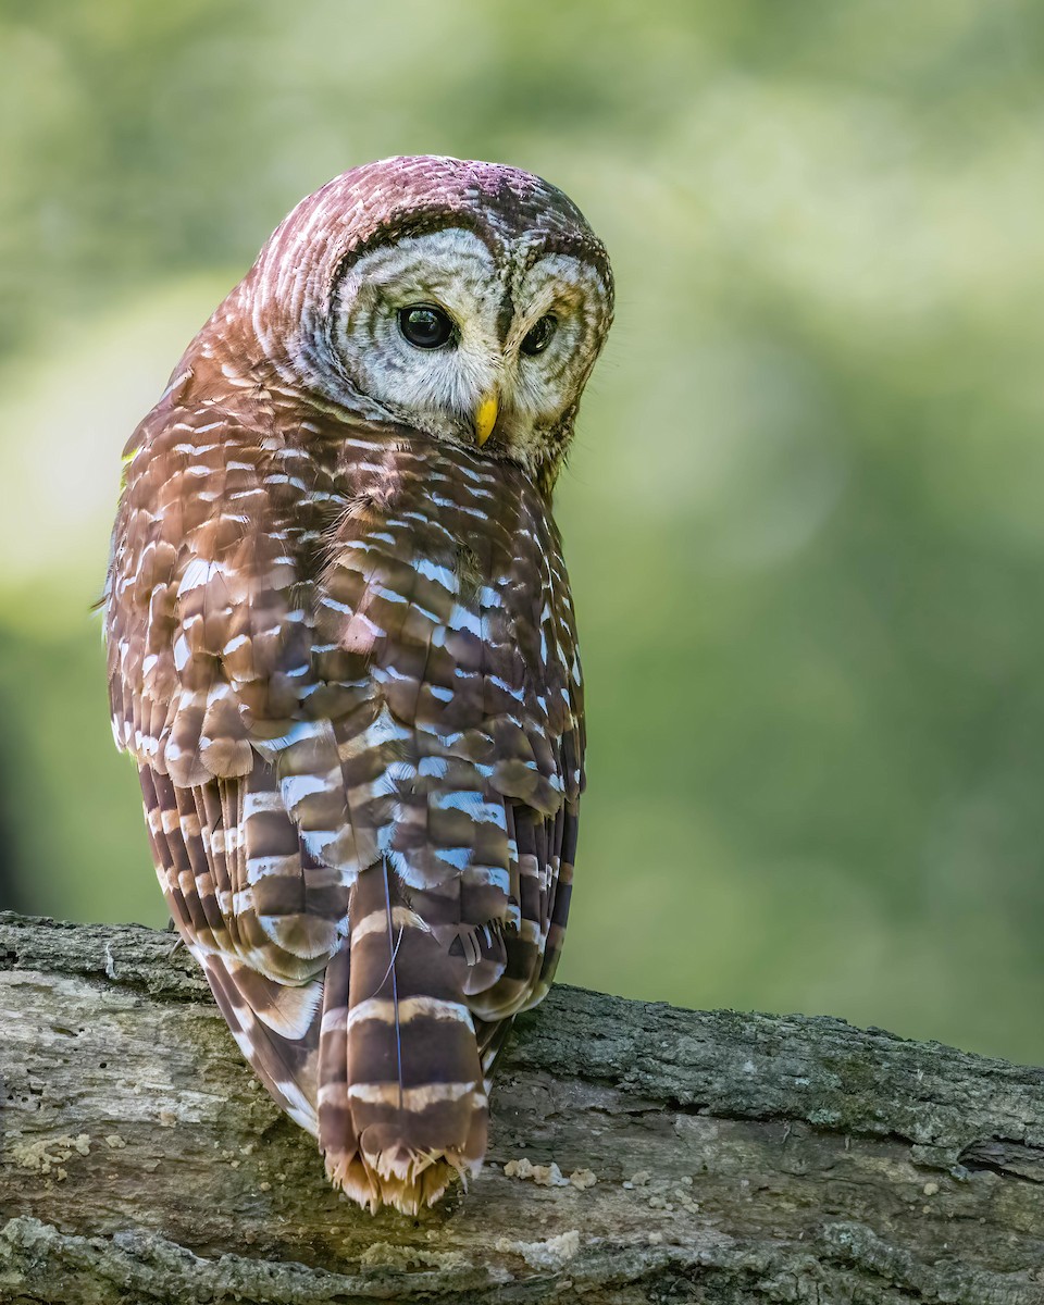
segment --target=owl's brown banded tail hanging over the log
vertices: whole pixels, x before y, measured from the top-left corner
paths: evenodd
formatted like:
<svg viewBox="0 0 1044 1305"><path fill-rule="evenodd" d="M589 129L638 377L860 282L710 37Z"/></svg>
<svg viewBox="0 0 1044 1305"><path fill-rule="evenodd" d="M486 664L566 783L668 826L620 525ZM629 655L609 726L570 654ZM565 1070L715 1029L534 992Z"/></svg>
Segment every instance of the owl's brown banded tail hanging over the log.
<svg viewBox="0 0 1044 1305"><path fill-rule="evenodd" d="M487 1098L458 967L385 863L359 876L326 971L318 1142L330 1180L416 1214L485 1151ZM351 983L348 983L351 972Z"/></svg>

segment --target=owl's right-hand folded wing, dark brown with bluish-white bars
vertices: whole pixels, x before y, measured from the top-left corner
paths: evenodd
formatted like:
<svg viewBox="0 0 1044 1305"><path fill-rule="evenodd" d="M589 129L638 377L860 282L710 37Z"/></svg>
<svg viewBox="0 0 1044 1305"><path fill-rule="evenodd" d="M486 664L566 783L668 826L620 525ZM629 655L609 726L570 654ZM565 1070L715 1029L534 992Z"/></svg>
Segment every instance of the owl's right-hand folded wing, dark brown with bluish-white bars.
<svg viewBox="0 0 1044 1305"><path fill-rule="evenodd" d="M540 1000L561 946L581 668L545 501L465 452L438 463L401 453L394 502L354 502L316 621L325 673L361 655L375 689L368 713L334 722L360 864L389 860L463 962L470 1010L496 1022Z"/></svg>

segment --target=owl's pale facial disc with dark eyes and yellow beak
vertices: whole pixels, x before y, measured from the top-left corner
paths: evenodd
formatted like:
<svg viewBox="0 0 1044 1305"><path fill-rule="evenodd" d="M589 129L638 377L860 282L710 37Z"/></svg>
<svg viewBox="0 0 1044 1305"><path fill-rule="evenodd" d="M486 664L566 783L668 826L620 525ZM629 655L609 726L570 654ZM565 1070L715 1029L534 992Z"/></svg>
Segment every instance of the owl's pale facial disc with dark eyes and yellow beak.
<svg viewBox="0 0 1044 1305"><path fill-rule="evenodd" d="M608 325L590 264L517 265L448 227L368 251L334 299L334 347L358 389L437 440L525 466L561 440Z"/></svg>

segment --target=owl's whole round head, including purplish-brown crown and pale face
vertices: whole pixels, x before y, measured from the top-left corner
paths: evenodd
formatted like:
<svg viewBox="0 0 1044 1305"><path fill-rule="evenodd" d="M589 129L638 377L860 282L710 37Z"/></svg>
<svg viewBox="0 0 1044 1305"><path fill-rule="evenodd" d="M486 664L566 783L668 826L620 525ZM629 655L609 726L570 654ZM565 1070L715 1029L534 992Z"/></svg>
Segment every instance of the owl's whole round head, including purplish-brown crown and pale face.
<svg viewBox="0 0 1044 1305"><path fill-rule="evenodd" d="M303 200L238 294L284 385L553 480L613 291L561 191L419 157Z"/></svg>

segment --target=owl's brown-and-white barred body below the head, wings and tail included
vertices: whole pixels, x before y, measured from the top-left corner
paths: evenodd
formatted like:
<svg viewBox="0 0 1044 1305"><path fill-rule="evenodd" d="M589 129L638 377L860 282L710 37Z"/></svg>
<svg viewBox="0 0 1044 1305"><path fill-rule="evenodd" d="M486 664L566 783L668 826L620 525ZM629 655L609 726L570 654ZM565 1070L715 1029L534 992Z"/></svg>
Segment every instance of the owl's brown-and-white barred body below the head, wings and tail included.
<svg viewBox="0 0 1044 1305"><path fill-rule="evenodd" d="M114 732L244 1054L354 1199L415 1211L478 1167L483 1074L561 947L583 720L559 538L506 463L326 438L260 390L215 420L176 406L191 384L128 468Z"/></svg>

